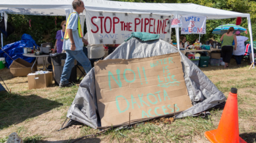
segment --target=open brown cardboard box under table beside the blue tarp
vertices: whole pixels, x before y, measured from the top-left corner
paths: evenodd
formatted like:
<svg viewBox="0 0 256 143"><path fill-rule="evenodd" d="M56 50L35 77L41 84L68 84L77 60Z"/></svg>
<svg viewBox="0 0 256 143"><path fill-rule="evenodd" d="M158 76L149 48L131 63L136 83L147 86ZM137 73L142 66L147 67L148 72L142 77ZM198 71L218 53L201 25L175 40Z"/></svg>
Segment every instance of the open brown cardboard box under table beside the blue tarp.
<svg viewBox="0 0 256 143"><path fill-rule="evenodd" d="M31 67L33 66L33 63L28 63L25 60L22 60L21 58L17 58L10 64L10 73L14 77L25 77L29 73L31 73ZM37 66L36 64L33 67L33 71L37 71Z"/></svg>

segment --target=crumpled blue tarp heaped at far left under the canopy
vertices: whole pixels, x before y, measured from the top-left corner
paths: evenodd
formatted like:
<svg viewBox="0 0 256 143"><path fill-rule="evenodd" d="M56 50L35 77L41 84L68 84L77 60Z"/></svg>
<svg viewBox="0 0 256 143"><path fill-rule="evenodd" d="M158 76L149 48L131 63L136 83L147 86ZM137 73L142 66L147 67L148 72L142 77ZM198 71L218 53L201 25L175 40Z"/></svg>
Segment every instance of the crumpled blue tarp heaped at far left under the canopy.
<svg viewBox="0 0 256 143"><path fill-rule="evenodd" d="M6 67L8 68L10 64L12 64L12 59L16 60L17 58L22 58L23 60L31 63L33 60L35 60L35 58L23 56L23 47L33 48L34 45L35 47L39 47L38 45L36 45L36 42L29 34L23 34L21 41L14 42L12 44L7 44L4 47L2 47L2 50L0 50L0 57L6 58ZM12 57L12 59L9 56L7 56L7 54L4 52L8 53L8 55Z"/></svg>

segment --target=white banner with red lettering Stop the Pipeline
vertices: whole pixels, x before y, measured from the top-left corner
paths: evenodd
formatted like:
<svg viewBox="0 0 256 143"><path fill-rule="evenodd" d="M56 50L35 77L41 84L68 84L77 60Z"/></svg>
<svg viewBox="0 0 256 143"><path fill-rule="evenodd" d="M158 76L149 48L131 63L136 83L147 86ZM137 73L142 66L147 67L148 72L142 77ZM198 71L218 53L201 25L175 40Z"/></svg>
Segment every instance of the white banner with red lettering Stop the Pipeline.
<svg viewBox="0 0 256 143"><path fill-rule="evenodd" d="M171 16L128 14L86 10L89 44L122 44L133 32L160 34L163 41L171 41Z"/></svg>

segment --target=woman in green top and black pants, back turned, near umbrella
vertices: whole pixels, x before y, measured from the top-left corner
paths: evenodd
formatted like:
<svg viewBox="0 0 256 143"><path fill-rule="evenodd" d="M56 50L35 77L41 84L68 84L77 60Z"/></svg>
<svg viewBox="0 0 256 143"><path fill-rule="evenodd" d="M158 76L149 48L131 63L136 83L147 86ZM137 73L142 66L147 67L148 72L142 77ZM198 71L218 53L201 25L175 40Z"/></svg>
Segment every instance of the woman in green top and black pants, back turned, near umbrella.
<svg viewBox="0 0 256 143"><path fill-rule="evenodd" d="M231 57L232 57L232 53L233 53L233 49L236 50L236 35L233 34L234 32L234 28L230 27L228 29L227 33L224 33L221 38L220 41L223 41L223 43L221 44L221 55L223 58L223 61L225 62L225 66L224 68L228 68L228 64L230 63ZM234 41L234 47L233 47L233 41Z"/></svg>

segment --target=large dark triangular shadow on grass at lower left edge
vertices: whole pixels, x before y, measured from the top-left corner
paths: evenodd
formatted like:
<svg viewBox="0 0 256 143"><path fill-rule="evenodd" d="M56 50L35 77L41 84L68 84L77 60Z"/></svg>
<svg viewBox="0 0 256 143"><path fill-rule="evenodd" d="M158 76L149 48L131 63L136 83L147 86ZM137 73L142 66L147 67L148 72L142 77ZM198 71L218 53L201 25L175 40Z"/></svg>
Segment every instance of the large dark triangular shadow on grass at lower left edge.
<svg viewBox="0 0 256 143"><path fill-rule="evenodd" d="M21 96L4 93L0 95L0 129L23 122L62 106L62 103L37 95Z"/></svg>

